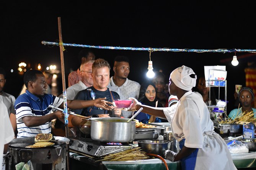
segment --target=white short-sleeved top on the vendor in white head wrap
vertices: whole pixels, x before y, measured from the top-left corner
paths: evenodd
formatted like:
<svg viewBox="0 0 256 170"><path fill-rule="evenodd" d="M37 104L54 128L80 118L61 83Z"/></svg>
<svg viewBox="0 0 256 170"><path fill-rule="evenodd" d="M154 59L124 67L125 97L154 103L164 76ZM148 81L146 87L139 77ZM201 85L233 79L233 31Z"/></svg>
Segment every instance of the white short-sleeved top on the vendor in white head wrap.
<svg viewBox="0 0 256 170"><path fill-rule="evenodd" d="M214 130L206 104L192 91L185 93L177 104L171 121L174 137L178 141L185 138L188 148L202 148L203 133Z"/></svg>

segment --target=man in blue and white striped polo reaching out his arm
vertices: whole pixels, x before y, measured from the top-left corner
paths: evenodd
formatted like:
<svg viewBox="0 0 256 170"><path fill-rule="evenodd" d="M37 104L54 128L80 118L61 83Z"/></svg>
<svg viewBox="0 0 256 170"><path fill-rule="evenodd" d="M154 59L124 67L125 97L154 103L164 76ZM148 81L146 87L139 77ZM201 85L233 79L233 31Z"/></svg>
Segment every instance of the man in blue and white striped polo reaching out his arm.
<svg viewBox="0 0 256 170"><path fill-rule="evenodd" d="M60 119L63 122L64 114L52 110L49 104L63 108L63 99L46 94L47 84L44 74L39 70L29 70L24 74L26 93L18 96L15 101L17 138L36 136L39 133L51 133L51 120ZM71 109L82 109L96 106L105 110L112 110L111 102L106 98L95 100L67 100ZM53 111L53 113L51 113Z"/></svg>

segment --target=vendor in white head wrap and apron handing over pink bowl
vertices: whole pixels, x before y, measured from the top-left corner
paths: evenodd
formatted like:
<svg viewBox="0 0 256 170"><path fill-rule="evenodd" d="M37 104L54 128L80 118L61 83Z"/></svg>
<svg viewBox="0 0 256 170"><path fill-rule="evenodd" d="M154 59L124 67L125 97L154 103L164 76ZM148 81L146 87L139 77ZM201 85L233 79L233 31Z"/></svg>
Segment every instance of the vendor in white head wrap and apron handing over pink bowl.
<svg viewBox="0 0 256 170"><path fill-rule="evenodd" d="M178 67L170 75L169 92L178 97L173 107L153 108L136 99L130 110L143 107L143 112L167 118L174 138L179 141L178 153L167 150L165 158L181 160L183 170L234 170L232 157L223 139L214 132L213 123L204 101L191 89L196 85L196 74L186 66Z"/></svg>

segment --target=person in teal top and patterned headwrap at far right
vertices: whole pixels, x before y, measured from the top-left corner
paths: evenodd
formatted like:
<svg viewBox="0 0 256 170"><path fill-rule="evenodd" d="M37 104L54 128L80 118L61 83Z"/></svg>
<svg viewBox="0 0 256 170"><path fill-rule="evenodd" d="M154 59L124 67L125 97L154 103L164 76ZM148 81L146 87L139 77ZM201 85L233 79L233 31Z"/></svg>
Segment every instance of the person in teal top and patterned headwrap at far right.
<svg viewBox="0 0 256 170"><path fill-rule="evenodd" d="M251 107L251 103L254 101L253 89L250 87L243 87L240 89L238 94L239 101L242 103L242 108L233 109L228 115L229 118L235 119L242 113L252 112L254 113L254 118L256 118L256 109Z"/></svg>

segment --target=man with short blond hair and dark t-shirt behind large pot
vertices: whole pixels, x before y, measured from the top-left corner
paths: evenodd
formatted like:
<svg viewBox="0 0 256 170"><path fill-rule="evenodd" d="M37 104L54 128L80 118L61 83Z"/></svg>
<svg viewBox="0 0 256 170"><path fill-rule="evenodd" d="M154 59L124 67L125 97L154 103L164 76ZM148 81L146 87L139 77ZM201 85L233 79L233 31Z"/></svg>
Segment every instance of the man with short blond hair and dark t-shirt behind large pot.
<svg viewBox="0 0 256 170"><path fill-rule="evenodd" d="M106 97L106 101L113 102L120 99L120 96L107 88L109 83L110 66L104 59L96 59L92 66L93 86L79 91L75 99L91 100ZM92 117L120 117L121 109L113 111L101 109L100 107L90 106L84 109L73 109L73 112L80 115Z"/></svg>

